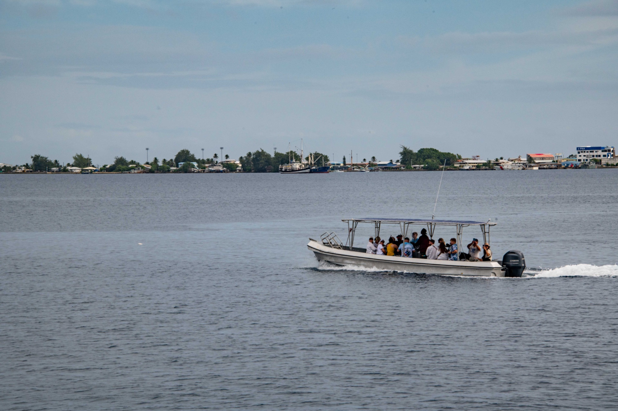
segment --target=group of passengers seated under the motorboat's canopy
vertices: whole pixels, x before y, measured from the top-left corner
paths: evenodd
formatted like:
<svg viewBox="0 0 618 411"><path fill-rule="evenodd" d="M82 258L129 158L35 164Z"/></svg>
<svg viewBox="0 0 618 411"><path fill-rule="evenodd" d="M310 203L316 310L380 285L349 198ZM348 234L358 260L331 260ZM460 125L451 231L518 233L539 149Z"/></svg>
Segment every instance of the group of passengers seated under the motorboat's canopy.
<svg viewBox="0 0 618 411"><path fill-rule="evenodd" d="M421 230L421 236L418 237L417 232L412 233L412 239L399 234L397 239L389 237L389 240L384 244L384 240L380 237L369 237L367 244L367 253L376 255L391 255L402 256L409 258L426 258L428 260L467 260L467 261L491 261L491 250L489 244L483 244L481 247L478 244L478 239L473 239L467 245L468 253L459 253L457 240L451 239L449 244L444 242L444 239L438 239L438 245L434 239L430 239L427 235L427 230ZM481 257L481 249L483 256Z"/></svg>

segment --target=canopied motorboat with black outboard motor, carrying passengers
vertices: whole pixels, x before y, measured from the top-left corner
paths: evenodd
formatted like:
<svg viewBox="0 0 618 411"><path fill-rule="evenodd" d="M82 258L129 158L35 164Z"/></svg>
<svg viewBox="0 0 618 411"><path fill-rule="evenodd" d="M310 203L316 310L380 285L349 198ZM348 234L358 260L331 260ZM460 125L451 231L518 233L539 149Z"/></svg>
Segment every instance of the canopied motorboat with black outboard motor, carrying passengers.
<svg viewBox="0 0 618 411"><path fill-rule="evenodd" d="M411 273L457 276L521 277L525 269L523 253L515 250L507 252L500 261L451 261L375 255L367 253L365 248L353 247L354 235L360 223L373 224L375 237L379 235L383 224L396 224L399 226L400 234L403 237L408 236L408 229L411 225L420 224L427 227L430 238L433 237L437 226L455 228L457 244L461 252L462 231L464 227L480 227L483 234L483 242L489 244L489 229L496 225L495 222L397 218L355 218L343 219L342 221L348 224L349 234L345 245L334 232L325 232L321 235L321 241L309 239L307 247L315 254L318 261L326 261L342 266L351 265L393 271L408 271Z"/></svg>

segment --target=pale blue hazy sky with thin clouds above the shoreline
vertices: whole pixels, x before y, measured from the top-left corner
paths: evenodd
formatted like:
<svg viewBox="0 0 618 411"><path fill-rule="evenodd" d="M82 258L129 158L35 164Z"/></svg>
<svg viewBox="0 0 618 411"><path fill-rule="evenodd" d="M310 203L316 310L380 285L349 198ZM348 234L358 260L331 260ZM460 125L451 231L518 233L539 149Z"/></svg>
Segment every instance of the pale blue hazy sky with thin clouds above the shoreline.
<svg viewBox="0 0 618 411"><path fill-rule="evenodd" d="M618 1L0 0L0 163L616 146Z"/></svg>

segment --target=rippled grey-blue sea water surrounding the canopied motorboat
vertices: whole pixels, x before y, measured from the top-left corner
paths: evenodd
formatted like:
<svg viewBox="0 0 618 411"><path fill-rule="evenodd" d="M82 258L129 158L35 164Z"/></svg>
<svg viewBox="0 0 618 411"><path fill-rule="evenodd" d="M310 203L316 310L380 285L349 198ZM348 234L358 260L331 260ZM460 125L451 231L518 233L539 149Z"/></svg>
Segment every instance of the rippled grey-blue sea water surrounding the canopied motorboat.
<svg viewBox="0 0 618 411"><path fill-rule="evenodd" d="M618 409L616 169L444 174L528 278L318 268L439 179L0 175L0 409Z"/></svg>

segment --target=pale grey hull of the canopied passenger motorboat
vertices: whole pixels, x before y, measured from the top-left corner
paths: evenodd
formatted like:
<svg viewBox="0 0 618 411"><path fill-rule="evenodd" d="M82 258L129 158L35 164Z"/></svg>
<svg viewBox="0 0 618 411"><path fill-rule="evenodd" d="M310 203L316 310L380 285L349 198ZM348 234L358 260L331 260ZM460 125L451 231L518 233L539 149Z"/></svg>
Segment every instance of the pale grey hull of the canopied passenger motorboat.
<svg viewBox="0 0 618 411"><path fill-rule="evenodd" d="M355 265L366 268L447 276L504 277L502 266L497 261L426 260L425 258L375 255L332 248L315 240L310 240L307 247L315 254L318 261L326 261L335 265Z"/></svg>

